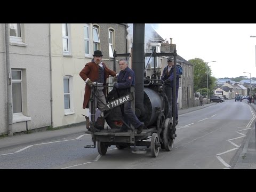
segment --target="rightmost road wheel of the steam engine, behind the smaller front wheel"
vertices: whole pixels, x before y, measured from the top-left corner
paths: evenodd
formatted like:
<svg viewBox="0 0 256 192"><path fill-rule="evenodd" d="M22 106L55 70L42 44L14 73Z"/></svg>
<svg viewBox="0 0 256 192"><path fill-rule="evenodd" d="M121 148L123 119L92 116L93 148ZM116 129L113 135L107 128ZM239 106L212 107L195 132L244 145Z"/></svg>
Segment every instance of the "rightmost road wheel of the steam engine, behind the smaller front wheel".
<svg viewBox="0 0 256 192"><path fill-rule="evenodd" d="M172 139L172 119L166 118L164 123L164 132L163 132L163 138L164 138L164 147L166 151L171 151L174 145L174 138Z"/></svg>

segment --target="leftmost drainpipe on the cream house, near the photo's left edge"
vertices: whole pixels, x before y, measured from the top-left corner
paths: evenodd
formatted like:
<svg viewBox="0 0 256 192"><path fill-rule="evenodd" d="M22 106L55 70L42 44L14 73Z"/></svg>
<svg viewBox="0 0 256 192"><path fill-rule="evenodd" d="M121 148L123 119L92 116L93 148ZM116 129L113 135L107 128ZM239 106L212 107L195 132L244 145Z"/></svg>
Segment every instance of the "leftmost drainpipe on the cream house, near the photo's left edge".
<svg viewBox="0 0 256 192"><path fill-rule="evenodd" d="M6 57L6 77L7 77L7 133L8 136L12 136L12 119L13 119L13 111L12 111L12 73L10 70L10 51L9 51L9 23L4 24L5 28L5 57Z"/></svg>

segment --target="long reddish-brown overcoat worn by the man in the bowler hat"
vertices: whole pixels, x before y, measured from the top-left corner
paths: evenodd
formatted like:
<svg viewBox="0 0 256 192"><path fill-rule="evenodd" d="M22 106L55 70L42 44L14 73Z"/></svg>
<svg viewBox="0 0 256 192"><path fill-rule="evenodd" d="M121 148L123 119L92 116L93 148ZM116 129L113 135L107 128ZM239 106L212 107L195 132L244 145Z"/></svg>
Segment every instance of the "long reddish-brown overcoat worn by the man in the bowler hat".
<svg viewBox="0 0 256 192"><path fill-rule="evenodd" d="M109 78L109 75L116 76L116 72L113 70L110 70L105 63L102 62L102 65L105 67L105 76L104 76L104 84L106 85L107 78ZM79 75L82 77L82 79L85 81L87 78L90 78L92 82L94 82L96 79L99 78L99 65L95 63L94 61L86 63L85 67L82 69L82 71L79 73ZM104 87L103 93L106 96L107 87ZM84 93L84 103L83 103L83 109L89 108L89 99L91 95L91 88L89 85L85 84L85 93Z"/></svg>

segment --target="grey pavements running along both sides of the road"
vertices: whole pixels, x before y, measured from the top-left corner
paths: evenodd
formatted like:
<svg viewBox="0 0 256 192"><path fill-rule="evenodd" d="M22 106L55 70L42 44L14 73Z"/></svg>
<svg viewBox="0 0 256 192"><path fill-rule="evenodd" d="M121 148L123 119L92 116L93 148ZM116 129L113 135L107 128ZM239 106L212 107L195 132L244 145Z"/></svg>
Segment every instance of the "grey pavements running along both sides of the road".
<svg viewBox="0 0 256 192"><path fill-rule="evenodd" d="M204 106L190 107L188 109L179 109L178 114L186 114L191 111L200 110L205 107L215 105L217 103L204 104ZM256 105L251 105L256 111ZM18 147L20 145L34 145L38 142L50 141L52 139L61 139L71 135L85 134L85 123L68 126L58 130L33 131L31 133L14 133L12 137L0 137L0 150ZM256 169L256 155L255 155L255 123L252 129L246 134L243 140L243 148L239 149L234 157L231 169Z"/></svg>

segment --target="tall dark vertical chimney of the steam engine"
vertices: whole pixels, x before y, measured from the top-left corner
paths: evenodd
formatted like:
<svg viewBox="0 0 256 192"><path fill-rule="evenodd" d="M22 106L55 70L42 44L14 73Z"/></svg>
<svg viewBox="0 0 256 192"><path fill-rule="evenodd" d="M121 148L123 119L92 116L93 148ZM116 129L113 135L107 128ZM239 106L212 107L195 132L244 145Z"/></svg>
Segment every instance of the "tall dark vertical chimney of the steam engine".
<svg viewBox="0 0 256 192"><path fill-rule="evenodd" d="M145 67L145 23L133 24L132 66L135 73L135 114L137 117L145 115L143 105L144 95L144 67Z"/></svg>

